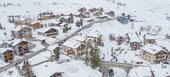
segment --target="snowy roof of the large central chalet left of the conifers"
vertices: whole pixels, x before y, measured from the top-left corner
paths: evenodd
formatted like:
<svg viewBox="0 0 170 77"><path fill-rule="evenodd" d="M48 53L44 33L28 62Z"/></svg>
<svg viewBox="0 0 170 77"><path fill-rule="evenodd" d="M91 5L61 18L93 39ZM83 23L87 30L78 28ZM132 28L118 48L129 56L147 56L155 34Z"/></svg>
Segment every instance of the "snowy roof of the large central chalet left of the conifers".
<svg viewBox="0 0 170 77"><path fill-rule="evenodd" d="M79 41L69 39L66 42L64 42L62 45L76 49L81 45L81 43Z"/></svg>

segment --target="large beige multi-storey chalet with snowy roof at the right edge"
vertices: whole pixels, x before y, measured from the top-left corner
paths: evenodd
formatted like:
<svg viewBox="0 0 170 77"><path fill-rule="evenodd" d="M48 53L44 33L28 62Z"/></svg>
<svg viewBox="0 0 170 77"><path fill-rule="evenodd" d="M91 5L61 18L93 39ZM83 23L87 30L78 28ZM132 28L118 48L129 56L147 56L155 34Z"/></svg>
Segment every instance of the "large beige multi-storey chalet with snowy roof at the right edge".
<svg viewBox="0 0 170 77"><path fill-rule="evenodd" d="M141 58L153 64L165 61L169 56L169 52L158 45L147 44L141 50Z"/></svg>

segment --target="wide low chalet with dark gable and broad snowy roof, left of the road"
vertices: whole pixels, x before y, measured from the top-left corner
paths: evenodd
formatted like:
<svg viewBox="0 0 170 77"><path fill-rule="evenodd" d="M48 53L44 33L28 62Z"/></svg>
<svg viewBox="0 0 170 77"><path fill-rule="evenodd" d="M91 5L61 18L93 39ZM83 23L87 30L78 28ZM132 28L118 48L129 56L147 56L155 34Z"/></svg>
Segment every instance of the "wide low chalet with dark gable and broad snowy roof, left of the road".
<svg viewBox="0 0 170 77"><path fill-rule="evenodd" d="M58 35L58 30L55 28L42 28L38 30L39 35L55 38Z"/></svg>

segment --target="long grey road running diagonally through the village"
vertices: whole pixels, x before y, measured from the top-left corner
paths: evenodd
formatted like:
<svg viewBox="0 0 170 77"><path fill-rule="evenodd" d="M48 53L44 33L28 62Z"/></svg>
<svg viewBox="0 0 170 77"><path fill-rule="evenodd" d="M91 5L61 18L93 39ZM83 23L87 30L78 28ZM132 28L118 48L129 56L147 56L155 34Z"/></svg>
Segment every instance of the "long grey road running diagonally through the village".
<svg viewBox="0 0 170 77"><path fill-rule="evenodd" d="M56 42L56 44L62 44L62 43L65 42L66 40L68 40L68 39L70 39L71 37L77 35L80 31L82 31L82 30L84 30L84 29L87 29L87 28L90 28L91 26L93 26L93 25L96 24L96 23L108 22L108 21L111 21L111 20L114 20L114 19L115 19L115 18L113 18L113 19L101 19L101 20L98 20L98 21L93 21L93 22L91 22L91 23L89 23L89 24L87 24L87 25L84 25L81 29L77 30L77 31L74 32L73 34L65 37L65 38L62 39L62 40L59 40L58 42ZM47 46L48 46L48 45L47 45ZM39 53L41 53L41 52L43 52L43 51L46 51L46 50L47 50L47 46L46 46L46 48L43 48L43 49L41 49L41 50L39 50L39 51L37 51L37 52L34 52L34 53L30 54L30 55L24 56L24 58L22 58L22 59L18 59L18 60L16 60L16 61L13 61L12 63L4 66L4 67L1 67L1 68L0 68L0 73L3 72L3 71L5 71L5 70L7 70L7 69L9 69L9 68L11 68L11 67L13 67L13 66L15 66L15 65L17 65L17 64L20 64L21 62L23 62L23 61L25 61L25 60L28 60L28 59L34 57L35 55L37 55L37 54L39 54Z"/></svg>

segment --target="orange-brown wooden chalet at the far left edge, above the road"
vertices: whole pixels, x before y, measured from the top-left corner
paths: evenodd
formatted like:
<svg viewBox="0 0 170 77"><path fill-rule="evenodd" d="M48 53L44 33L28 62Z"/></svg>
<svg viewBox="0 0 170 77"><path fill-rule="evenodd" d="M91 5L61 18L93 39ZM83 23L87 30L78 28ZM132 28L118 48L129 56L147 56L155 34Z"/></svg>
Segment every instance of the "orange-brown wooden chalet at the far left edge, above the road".
<svg viewBox="0 0 170 77"><path fill-rule="evenodd" d="M4 62L12 61L14 53L11 48L0 48L0 57Z"/></svg>

